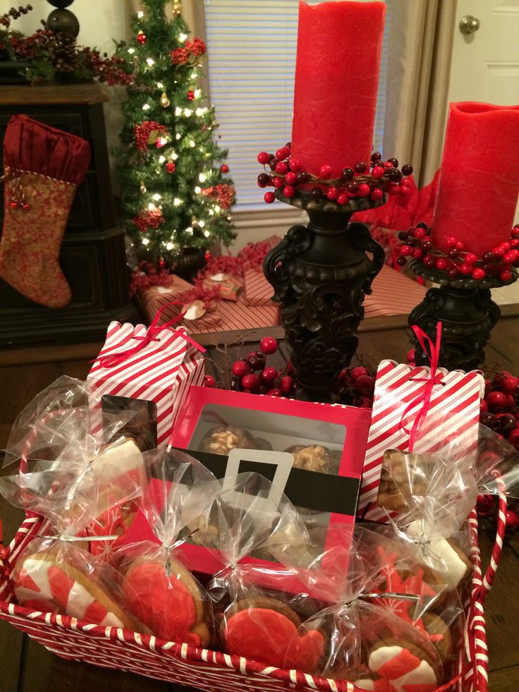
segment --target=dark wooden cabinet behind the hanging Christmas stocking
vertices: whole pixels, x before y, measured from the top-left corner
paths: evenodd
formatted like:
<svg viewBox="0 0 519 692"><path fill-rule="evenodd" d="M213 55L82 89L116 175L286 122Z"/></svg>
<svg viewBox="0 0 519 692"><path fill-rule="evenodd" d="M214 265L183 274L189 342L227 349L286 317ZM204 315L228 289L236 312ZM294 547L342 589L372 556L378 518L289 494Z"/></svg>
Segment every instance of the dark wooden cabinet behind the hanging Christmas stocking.
<svg viewBox="0 0 519 692"><path fill-rule="evenodd" d="M85 138L92 152L60 254L72 301L65 308L45 308L0 279L0 345L102 341L111 320L137 317L128 294L124 230L118 226L111 192L103 113L107 100L95 84L0 87L0 141L11 115L24 113ZM3 206L2 190L2 217Z"/></svg>

